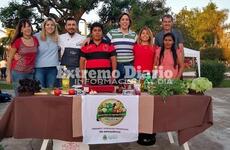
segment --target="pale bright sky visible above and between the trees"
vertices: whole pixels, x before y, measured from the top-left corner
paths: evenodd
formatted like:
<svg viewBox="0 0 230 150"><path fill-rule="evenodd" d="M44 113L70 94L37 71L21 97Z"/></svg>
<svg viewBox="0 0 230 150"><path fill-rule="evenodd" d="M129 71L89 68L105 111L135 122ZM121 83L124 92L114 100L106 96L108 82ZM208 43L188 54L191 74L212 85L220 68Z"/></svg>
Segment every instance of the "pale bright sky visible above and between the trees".
<svg viewBox="0 0 230 150"><path fill-rule="evenodd" d="M0 7L6 7L10 1L21 2L22 0L1 0ZM202 9L203 7L207 6L210 1L214 2L219 10L228 9L230 11L230 0L166 0L166 6L170 7L173 13L178 13L185 6L188 9ZM92 10L89 12L89 14L84 14L82 18L86 19L88 23L98 21L99 17L96 15L96 12L97 10ZM228 16L229 17L226 23L230 23L230 12L228 13ZM83 23L80 23L80 28L82 28L81 26L83 25Z"/></svg>

